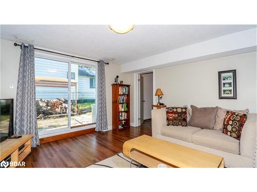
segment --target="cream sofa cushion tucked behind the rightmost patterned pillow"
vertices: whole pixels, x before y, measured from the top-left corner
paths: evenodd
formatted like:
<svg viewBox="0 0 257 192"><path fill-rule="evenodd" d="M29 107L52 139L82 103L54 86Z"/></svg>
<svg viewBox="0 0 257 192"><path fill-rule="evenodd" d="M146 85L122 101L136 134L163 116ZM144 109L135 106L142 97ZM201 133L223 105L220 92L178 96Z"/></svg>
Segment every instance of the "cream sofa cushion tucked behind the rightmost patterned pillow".
<svg viewBox="0 0 257 192"><path fill-rule="evenodd" d="M241 110L241 111L235 111L235 110L227 110L224 108L220 108L218 107L218 111L217 111L217 115L216 115L216 121L214 124L213 129L214 130L219 130L219 131L223 131L223 121L225 119L225 115L227 114L227 111L234 111L236 113L243 113L243 114L248 114L249 113L249 109L245 109L245 110Z"/></svg>

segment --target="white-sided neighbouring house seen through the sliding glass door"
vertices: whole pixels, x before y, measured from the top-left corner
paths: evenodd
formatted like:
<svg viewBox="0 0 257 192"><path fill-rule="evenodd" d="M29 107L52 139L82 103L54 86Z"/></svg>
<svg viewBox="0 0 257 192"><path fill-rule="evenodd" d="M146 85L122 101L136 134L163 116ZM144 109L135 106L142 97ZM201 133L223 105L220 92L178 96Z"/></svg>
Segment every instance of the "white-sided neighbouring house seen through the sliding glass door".
<svg viewBox="0 0 257 192"><path fill-rule="evenodd" d="M68 63L35 57L35 78L45 79L45 84L36 81L36 99L68 99ZM49 84L47 80L51 80ZM95 101L96 70L90 67L71 64L71 82L77 86L78 102ZM66 84L65 84L66 83ZM76 87L71 86L71 100L76 98Z"/></svg>

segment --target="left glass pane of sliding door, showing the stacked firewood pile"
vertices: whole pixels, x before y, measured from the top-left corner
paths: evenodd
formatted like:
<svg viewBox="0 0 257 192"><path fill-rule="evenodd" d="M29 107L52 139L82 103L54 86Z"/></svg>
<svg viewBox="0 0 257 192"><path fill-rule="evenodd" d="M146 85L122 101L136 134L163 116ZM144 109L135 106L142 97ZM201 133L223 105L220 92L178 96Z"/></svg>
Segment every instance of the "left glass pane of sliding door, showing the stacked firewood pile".
<svg viewBox="0 0 257 192"><path fill-rule="evenodd" d="M39 131L68 127L68 63L35 57Z"/></svg>

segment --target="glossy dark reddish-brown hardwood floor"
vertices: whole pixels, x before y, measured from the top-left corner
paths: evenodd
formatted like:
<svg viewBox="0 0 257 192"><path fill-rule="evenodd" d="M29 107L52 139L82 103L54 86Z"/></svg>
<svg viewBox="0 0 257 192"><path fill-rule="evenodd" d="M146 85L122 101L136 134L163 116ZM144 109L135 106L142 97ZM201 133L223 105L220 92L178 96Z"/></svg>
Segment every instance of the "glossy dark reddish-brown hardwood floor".
<svg viewBox="0 0 257 192"><path fill-rule="evenodd" d="M152 135L151 126L121 131L94 132L32 148L26 167L86 167L122 152L123 143L140 135Z"/></svg>

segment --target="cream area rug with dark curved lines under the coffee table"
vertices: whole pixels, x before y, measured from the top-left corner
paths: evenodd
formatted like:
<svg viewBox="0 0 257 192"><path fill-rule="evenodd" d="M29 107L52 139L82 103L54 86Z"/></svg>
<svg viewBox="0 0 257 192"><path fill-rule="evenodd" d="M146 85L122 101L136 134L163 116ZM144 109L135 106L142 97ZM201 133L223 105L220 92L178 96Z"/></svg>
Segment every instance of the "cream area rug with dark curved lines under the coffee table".
<svg viewBox="0 0 257 192"><path fill-rule="evenodd" d="M145 166L140 165L139 163L133 161L132 167L143 168ZM104 159L86 168L130 168L130 159L125 157L122 153L119 153L113 157Z"/></svg>

